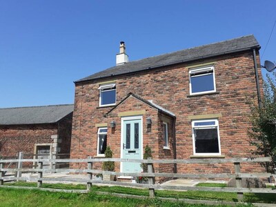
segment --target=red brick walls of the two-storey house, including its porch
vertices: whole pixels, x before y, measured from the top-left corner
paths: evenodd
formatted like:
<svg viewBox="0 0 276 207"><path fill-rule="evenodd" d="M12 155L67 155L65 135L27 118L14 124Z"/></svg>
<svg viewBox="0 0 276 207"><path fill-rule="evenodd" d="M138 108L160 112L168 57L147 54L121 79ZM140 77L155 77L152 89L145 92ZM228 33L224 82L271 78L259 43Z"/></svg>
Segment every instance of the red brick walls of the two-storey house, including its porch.
<svg viewBox="0 0 276 207"><path fill-rule="evenodd" d="M215 84L217 93L213 95L201 95L190 97L188 67L202 63L213 62L215 67ZM259 54L257 54L259 63ZM259 68L259 77L261 72ZM110 79L100 79L86 83L77 83L75 87L75 110L72 124L71 158L85 158L88 155L96 156L97 128L95 124L110 123L110 119L103 117L111 107L99 108L99 82L114 81L117 88L117 103L124 99L129 92L146 100L153 100L159 106L170 110L176 115L175 134L177 159L190 159L193 155L193 139L190 115L219 114L219 134L221 141L221 155L230 157L250 157L253 146L249 144L247 130L249 125L247 114L250 109L246 103L247 98L257 96L255 83L255 70L253 53L244 52L236 55L225 55L215 59L205 59L193 63L181 63L174 66L166 66L155 70L137 72L136 74L121 75ZM262 83L262 80L261 80ZM141 103L122 104L120 111L146 109L148 106L140 107ZM151 110L148 110L151 111ZM147 111L147 112L148 112ZM152 116L151 134L144 133L144 145L146 137L151 136L149 144L152 146L154 159L168 158L170 152L157 153L161 150L161 121L158 115ZM143 116L145 119L147 115ZM119 117L113 117L120 124ZM145 120L143 121L144 128ZM116 127L116 128L117 128ZM118 128L116 129L118 130ZM117 135L117 133L116 133ZM110 135L108 128L108 139ZM172 135L170 135L172 136ZM113 144L113 142L112 142ZM158 146L158 149L155 146ZM120 146L117 142L116 148L112 148L115 157L119 157ZM79 166L83 168L84 166ZM168 166L158 166L168 170ZM177 166L178 172L233 172L233 166L227 164L213 165L190 165ZM244 166L245 171L262 171L257 165Z"/></svg>

